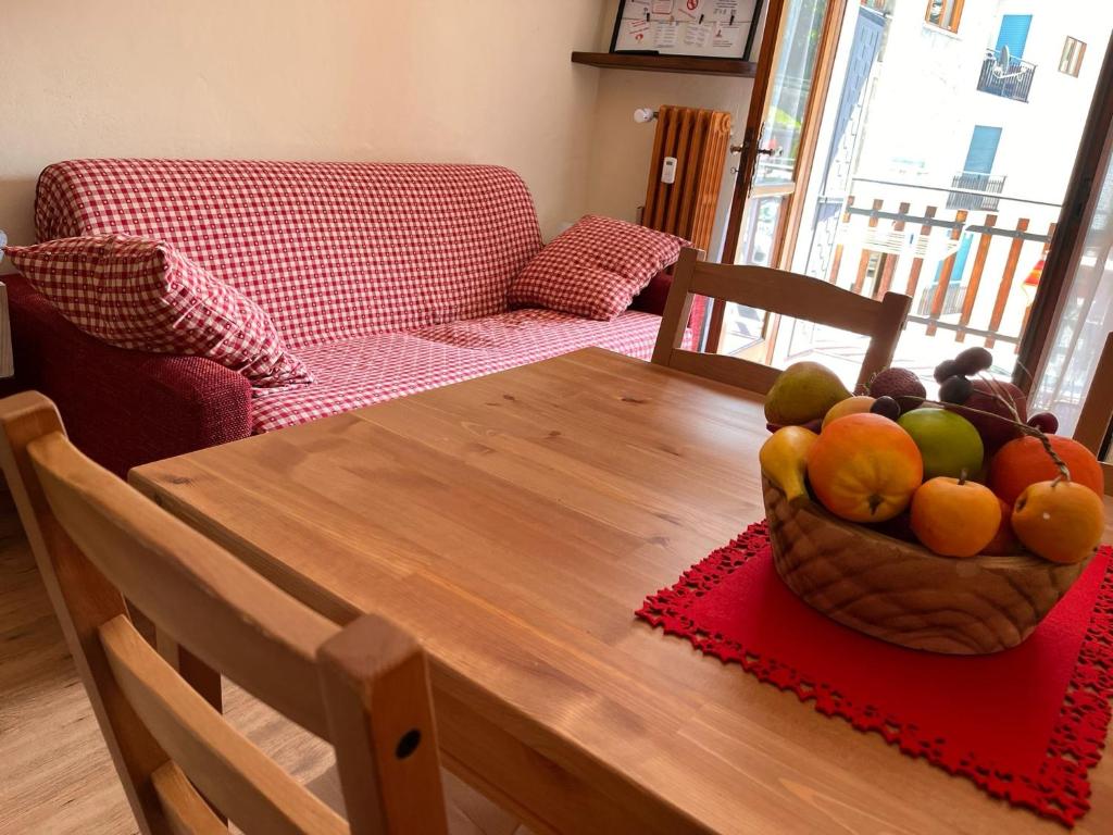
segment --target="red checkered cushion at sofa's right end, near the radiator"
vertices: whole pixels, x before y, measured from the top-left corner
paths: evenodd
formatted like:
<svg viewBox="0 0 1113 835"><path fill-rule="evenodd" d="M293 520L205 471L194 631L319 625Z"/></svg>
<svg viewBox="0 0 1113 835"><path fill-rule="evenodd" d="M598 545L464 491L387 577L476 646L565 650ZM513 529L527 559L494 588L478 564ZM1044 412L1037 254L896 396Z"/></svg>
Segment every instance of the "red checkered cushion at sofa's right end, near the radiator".
<svg viewBox="0 0 1113 835"><path fill-rule="evenodd" d="M663 232L587 215L561 233L510 285L511 307L546 307L612 320L687 242Z"/></svg>

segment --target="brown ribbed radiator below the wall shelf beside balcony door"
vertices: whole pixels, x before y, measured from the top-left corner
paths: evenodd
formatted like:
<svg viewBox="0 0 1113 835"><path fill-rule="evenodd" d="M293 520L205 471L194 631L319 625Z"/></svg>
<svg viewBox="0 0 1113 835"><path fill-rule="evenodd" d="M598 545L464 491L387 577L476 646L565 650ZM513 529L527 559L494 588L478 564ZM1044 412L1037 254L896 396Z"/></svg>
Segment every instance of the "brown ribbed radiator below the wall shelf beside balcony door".
<svg viewBox="0 0 1113 835"><path fill-rule="evenodd" d="M730 114L664 105L658 110L653 157L641 222L660 232L679 235L705 253L719 206L722 168L730 146ZM664 160L677 160L676 178L661 181ZM706 299L692 304L692 326L701 326Z"/></svg>

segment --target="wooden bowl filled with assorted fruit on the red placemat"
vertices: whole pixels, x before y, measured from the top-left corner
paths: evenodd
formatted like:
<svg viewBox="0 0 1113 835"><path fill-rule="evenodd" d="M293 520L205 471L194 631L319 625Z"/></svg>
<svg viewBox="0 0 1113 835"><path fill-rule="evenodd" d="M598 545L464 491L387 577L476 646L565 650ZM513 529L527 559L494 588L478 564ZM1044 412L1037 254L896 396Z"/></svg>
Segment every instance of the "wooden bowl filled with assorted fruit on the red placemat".
<svg viewBox="0 0 1113 835"><path fill-rule="evenodd" d="M1046 433L1053 415L1026 422L1023 399L971 380L986 354L940 366L940 400L844 399L818 434L769 439L774 562L805 602L902 646L983 654L1023 641L1081 576L1105 527L1101 468ZM969 405L979 391L992 411Z"/></svg>

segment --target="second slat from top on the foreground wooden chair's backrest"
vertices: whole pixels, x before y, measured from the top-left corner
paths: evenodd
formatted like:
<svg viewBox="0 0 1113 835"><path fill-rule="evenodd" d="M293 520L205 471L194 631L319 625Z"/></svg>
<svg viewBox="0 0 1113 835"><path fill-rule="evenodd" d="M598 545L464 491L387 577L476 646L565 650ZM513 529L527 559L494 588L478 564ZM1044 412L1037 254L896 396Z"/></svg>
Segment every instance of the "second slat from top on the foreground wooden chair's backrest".
<svg viewBox="0 0 1113 835"><path fill-rule="evenodd" d="M121 616L100 628L112 676L151 736L233 822L346 835L346 822L234 730Z"/></svg>

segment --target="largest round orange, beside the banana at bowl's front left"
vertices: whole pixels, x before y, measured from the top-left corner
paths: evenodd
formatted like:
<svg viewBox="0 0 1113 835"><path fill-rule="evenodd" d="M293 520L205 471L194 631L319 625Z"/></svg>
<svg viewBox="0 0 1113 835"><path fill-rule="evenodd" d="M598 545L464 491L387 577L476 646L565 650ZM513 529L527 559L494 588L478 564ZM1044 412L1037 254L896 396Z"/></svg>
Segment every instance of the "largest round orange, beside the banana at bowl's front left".
<svg viewBox="0 0 1113 835"><path fill-rule="evenodd" d="M827 424L808 455L816 498L851 522L884 522L908 507L924 479L912 436L879 414L849 414Z"/></svg>

